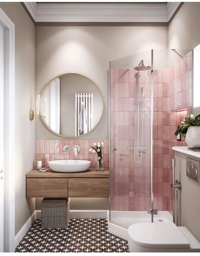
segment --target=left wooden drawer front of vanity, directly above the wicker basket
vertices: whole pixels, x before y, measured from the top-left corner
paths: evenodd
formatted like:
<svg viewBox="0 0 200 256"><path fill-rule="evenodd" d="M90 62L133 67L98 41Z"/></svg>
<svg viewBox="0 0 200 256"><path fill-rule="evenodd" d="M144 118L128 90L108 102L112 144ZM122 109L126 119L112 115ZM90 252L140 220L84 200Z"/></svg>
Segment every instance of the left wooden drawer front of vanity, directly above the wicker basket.
<svg viewBox="0 0 200 256"><path fill-rule="evenodd" d="M26 179L26 197L67 197L67 179Z"/></svg>

